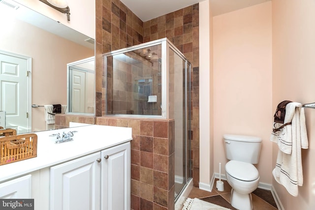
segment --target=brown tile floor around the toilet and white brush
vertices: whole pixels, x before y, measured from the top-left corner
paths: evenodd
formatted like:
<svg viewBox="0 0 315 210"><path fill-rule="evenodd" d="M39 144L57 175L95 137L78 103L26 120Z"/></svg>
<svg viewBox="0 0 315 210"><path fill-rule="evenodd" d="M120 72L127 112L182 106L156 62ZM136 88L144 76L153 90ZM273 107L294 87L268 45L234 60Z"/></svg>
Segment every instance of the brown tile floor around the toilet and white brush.
<svg viewBox="0 0 315 210"><path fill-rule="evenodd" d="M225 207L231 210L236 210L230 204L231 186L224 182L224 191L218 191L216 188L217 179L213 186L212 192L201 190L197 187L193 187L189 193L189 198L199 198L203 201L207 201L221 207ZM271 194L271 191L257 188L252 192L252 204L253 210L277 210L276 202Z"/></svg>

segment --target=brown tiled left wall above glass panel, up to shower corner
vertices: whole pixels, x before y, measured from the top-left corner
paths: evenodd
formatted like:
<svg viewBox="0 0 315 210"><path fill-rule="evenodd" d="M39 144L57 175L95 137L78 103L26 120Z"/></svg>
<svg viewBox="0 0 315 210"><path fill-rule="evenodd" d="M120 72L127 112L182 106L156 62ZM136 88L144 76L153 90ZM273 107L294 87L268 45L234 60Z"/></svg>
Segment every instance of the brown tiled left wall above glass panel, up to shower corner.
<svg viewBox="0 0 315 210"><path fill-rule="evenodd" d="M95 115L104 116L102 54L143 43L143 22L120 0L96 0Z"/></svg>

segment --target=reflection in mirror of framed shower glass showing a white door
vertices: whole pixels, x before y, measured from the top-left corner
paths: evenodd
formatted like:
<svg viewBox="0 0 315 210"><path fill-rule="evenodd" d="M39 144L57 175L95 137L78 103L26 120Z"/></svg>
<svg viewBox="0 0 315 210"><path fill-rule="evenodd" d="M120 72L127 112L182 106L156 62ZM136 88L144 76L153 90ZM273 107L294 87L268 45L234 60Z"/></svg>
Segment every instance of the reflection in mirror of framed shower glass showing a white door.
<svg viewBox="0 0 315 210"><path fill-rule="evenodd" d="M94 57L68 64L69 113L94 114Z"/></svg>

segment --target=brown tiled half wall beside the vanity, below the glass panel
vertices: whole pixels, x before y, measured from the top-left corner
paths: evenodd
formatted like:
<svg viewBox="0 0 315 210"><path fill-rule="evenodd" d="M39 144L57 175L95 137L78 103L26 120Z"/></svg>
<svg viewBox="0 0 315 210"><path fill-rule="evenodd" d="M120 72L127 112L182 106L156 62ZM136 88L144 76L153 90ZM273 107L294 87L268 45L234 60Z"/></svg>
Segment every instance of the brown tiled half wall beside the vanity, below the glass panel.
<svg viewBox="0 0 315 210"><path fill-rule="evenodd" d="M174 210L174 120L97 117L132 128L131 209Z"/></svg>

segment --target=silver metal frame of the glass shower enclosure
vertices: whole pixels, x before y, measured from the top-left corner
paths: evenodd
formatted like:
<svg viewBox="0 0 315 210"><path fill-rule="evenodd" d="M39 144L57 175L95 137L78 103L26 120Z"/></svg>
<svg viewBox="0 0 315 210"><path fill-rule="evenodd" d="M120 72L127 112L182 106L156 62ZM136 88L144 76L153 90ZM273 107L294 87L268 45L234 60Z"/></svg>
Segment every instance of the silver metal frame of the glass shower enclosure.
<svg viewBox="0 0 315 210"><path fill-rule="evenodd" d="M173 45L167 38L158 39L155 41L150 41L147 43L127 47L120 50L115 50L109 53L103 54L104 57L104 85L107 89L107 57L109 56L115 56L119 54L124 54L129 51L139 50L142 48L148 48L155 45L161 45L161 84L167 84L162 85L161 87L161 115L132 115L132 114L108 114L107 113L107 94L104 92L104 98L105 98L105 112L107 116L117 116L117 117L127 117L127 118L155 118L155 119L170 119L170 112L169 112L169 49L173 50L176 55L178 55L182 60L185 60L185 158L183 158L183 161L185 161L185 184L182 187L182 189L179 191L178 196L175 197L175 202L180 197L181 193L187 186L190 180L192 180L192 163L191 163L191 62L187 60L187 58L184 56L182 52L180 52L175 45ZM107 90L106 90L107 91ZM175 119L174 119L175 120ZM185 160L184 160L185 159ZM174 172L175 176L175 172ZM174 183L175 184L175 183ZM174 189L175 191L175 189Z"/></svg>

